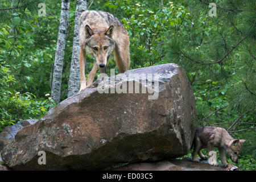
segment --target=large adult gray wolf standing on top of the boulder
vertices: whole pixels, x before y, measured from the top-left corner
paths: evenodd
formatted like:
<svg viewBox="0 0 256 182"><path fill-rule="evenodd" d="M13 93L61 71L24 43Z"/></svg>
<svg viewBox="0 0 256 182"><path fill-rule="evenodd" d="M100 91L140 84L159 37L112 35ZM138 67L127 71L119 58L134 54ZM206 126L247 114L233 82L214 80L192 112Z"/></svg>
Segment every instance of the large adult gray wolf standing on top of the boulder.
<svg viewBox="0 0 256 182"><path fill-rule="evenodd" d="M79 19L80 43L80 91L92 84L97 68L106 73L106 64L114 51L115 64L123 73L130 67L130 40L128 32L117 18L104 11L84 11ZM85 61L86 53L94 57L92 71L86 84Z"/></svg>

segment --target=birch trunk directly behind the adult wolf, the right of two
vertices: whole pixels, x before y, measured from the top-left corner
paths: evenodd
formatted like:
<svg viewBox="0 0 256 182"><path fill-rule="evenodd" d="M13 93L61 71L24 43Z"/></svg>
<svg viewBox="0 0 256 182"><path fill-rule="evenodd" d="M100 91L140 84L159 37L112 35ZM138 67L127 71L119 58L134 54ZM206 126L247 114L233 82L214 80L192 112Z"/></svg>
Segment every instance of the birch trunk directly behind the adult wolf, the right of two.
<svg viewBox="0 0 256 182"><path fill-rule="evenodd" d="M73 37L73 51L71 59L71 68L68 81L68 97L79 92L80 89L80 69L79 69L79 18L83 11L87 9L88 0L76 1L76 19Z"/></svg>

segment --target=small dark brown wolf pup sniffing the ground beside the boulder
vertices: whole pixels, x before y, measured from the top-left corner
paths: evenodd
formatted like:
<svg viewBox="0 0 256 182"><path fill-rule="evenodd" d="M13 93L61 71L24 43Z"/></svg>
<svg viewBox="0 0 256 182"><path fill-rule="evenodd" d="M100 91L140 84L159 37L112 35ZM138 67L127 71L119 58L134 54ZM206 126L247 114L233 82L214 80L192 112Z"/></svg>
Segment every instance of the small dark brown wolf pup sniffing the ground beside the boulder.
<svg viewBox="0 0 256 182"><path fill-rule="evenodd" d="M199 154L201 159L207 159L207 156L203 155L201 149L207 148L208 152L213 151L214 147L217 147L220 151L221 163L224 167L228 167L226 162L226 152L230 155L231 160L234 163L238 163L238 154L241 152L241 144L246 140L232 138L228 131L222 127L206 126L196 130L195 138L193 140L193 161L199 162L196 158ZM212 164L218 166L217 161Z"/></svg>

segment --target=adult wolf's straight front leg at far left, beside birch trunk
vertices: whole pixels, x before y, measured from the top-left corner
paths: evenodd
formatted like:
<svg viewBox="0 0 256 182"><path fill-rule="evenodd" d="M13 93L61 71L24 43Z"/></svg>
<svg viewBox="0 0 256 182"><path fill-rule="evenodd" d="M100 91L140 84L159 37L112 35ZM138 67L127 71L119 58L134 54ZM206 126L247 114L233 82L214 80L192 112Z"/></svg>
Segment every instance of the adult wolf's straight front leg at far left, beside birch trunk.
<svg viewBox="0 0 256 182"><path fill-rule="evenodd" d="M86 88L86 78L85 78L85 62L86 62L86 52L81 47L80 54L79 54L79 65L80 65L80 90Z"/></svg>

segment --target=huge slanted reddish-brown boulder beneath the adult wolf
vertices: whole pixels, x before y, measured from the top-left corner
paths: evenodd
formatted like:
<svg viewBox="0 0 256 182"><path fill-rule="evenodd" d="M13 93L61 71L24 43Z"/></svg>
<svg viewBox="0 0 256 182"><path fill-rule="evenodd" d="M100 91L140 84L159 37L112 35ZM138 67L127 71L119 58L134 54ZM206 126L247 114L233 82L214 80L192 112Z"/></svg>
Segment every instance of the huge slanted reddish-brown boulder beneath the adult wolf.
<svg viewBox="0 0 256 182"><path fill-rule="evenodd" d="M134 73L146 73L146 77L138 79ZM157 75L151 78L151 73ZM126 90L128 77L127 89L139 85L141 92L101 93L102 89ZM195 98L181 67L162 64L134 69L109 81L110 86L94 82L34 125L23 127L1 152L6 166L106 169L189 152L196 129ZM38 163L39 151L46 152L46 164Z"/></svg>

